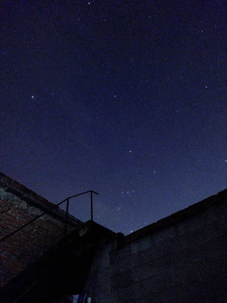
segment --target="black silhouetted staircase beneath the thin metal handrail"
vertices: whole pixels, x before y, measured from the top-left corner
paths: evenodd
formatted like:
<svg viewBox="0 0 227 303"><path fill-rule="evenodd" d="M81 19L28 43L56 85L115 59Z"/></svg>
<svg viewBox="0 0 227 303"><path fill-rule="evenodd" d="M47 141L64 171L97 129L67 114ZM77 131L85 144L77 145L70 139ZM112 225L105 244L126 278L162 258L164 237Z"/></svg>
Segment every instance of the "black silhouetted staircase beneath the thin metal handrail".
<svg viewBox="0 0 227 303"><path fill-rule="evenodd" d="M89 220L46 251L0 291L0 303L70 302L83 292L90 266L103 237L111 230Z"/></svg>

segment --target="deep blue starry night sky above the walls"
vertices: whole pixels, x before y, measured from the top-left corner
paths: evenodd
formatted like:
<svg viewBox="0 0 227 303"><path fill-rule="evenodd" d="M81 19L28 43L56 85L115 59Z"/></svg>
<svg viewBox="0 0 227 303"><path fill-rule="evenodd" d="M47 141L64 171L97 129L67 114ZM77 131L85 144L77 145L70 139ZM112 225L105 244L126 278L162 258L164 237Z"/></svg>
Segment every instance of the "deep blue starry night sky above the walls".
<svg viewBox="0 0 227 303"><path fill-rule="evenodd" d="M223 1L5 1L1 171L129 234L226 185ZM89 195L70 212L90 216Z"/></svg>

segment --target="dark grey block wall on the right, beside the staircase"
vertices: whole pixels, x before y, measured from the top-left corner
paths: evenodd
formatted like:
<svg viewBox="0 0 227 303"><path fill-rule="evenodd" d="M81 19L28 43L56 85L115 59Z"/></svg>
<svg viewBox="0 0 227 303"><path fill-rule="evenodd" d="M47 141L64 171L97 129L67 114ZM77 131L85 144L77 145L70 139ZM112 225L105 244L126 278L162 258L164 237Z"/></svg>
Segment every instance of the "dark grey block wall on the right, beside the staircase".
<svg viewBox="0 0 227 303"><path fill-rule="evenodd" d="M224 302L227 190L122 240L104 239L85 292L96 302Z"/></svg>

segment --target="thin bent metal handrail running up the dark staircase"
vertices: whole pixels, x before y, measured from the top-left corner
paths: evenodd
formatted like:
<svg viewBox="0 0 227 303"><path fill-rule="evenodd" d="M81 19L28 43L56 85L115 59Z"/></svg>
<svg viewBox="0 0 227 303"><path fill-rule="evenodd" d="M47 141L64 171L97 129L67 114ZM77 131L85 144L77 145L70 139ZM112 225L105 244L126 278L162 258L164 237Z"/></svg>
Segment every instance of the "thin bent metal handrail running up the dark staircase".
<svg viewBox="0 0 227 303"><path fill-rule="evenodd" d="M74 198L74 197L78 197L79 195L85 194L85 193L91 193L91 221L93 221L93 196L92 194L95 193L98 195L97 192L93 191L93 190L88 190L85 192L81 192L78 194L75 194L73 196L70 196L66 199L64 199L63 201L61 201L60 203L54 205L53 207L51 207L50 209L48 209L47 211L43 212L41 215L36 216L34 219L30 220L29 222L25 223L24 225L22 225L21 227L19 227L18 229L14 230L13 232L11 232L10 234L6 235L5 237L0 239L0 242L5 241L6 239L8 239L9 237L13 236L15 233L17 233L18 231L20 231L22 228L28 226L29 224L31 224L32 222L36 221L37 219L39 219L40 217L42 217L43 215L47 214L49 211L52 211L55 207L61 205L62 203L64 203L65 201L67 201L67 206L66 206L66 220L65 220L65 233L64 236L66 236L66 232L67 232L67 224L68 224L68 213L69 213L69 199Z"/></svg>

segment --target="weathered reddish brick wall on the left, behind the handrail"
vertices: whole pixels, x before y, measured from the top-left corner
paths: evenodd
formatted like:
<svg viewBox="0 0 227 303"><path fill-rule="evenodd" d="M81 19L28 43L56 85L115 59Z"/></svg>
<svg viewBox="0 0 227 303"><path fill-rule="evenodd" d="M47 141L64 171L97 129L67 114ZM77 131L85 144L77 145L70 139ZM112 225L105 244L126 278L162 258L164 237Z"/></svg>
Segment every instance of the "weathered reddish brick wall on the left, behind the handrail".
<svg viewBox="0 0 227 303"><path fill-rule="evenodd" d="M0 182L0 285L2 287L64 236L65 212L58 207L48 211L54 204L2 173ZM44 211L48 211L48 214L1 242L1 238ZM67 233L81 225L81 221L69 215Z"/></svg>

